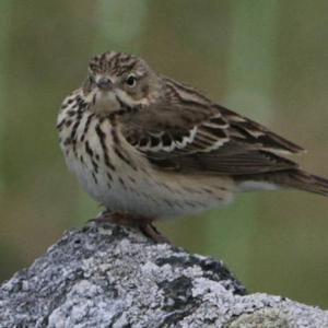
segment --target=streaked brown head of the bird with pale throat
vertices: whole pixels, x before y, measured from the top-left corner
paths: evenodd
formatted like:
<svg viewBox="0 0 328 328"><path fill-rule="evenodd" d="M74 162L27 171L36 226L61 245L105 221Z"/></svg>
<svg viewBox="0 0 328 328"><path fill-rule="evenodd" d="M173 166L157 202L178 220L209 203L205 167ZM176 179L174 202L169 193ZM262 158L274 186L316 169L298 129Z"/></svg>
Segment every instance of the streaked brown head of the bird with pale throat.
<svg viewBox="0 0 328 328"><path fill-rule="evenodd" d="M83 92L97 114L128 110L154 103L161 93L161 79L140 58L108 51L89 63Z"/></svg>

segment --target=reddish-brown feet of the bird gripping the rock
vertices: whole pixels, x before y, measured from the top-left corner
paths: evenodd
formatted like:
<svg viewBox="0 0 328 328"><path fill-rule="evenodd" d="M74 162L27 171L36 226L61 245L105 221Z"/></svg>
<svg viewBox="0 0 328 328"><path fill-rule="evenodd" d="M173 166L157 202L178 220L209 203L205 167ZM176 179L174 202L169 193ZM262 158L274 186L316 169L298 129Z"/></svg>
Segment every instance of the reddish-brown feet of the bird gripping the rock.
<svg viewBox="0 0 328 328"><path fill-rule="evenodd" d="M102 212L95 219L89 222L96 223L115 223L124 226L139 227L139 230L156 244L171 244L169 241L163 236L153 225L153 219L136 216L125 212L110 212L108 210Z"/></svg>

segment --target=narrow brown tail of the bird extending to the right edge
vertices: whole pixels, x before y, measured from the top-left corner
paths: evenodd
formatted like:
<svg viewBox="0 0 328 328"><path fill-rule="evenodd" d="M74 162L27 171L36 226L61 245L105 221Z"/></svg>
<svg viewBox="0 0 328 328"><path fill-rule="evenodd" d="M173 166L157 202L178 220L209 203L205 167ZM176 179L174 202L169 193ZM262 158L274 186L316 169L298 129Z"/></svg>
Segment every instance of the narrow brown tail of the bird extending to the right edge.
<svg viewBox="0 0 328 328"><path fill-rule="evenodd" d="M246 180L246 177L244 178ZM294 188L328 196L328 179L309 174L298 168L253 175L248 176L247 180L267 183L277 187Z"/></svg>

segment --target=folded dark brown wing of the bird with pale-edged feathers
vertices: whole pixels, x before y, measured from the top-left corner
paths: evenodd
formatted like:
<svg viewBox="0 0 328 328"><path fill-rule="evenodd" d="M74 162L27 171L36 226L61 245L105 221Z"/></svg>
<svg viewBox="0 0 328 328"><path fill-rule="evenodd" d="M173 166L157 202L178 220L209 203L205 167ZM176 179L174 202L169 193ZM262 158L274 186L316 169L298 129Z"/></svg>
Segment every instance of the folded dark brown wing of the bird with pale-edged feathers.
<svg viewBox="0 0 328 328"><path fill-rule="evenodd" d="M190 90L189 90L190 91ZM126 117L122 133L162 169L245 175L296 167L280 153L302 148L207 98L173 98Z"/></svg>

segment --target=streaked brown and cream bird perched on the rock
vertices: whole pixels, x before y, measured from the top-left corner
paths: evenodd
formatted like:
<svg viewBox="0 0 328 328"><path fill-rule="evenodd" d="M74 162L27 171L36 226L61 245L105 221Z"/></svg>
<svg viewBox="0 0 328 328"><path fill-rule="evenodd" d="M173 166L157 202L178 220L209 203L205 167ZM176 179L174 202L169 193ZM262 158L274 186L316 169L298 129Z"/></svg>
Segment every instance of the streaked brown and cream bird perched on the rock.
<svg viewBox="0 0 328 328"><path fill-rule="evenodd" d="M288 157L303 148L129 54L90 60L57 130L68 167L105 207L99 221L137 225L159 243L155 220L219 208L239 192L328 196L328 179Z"/></svg>

